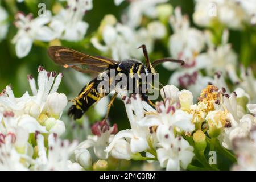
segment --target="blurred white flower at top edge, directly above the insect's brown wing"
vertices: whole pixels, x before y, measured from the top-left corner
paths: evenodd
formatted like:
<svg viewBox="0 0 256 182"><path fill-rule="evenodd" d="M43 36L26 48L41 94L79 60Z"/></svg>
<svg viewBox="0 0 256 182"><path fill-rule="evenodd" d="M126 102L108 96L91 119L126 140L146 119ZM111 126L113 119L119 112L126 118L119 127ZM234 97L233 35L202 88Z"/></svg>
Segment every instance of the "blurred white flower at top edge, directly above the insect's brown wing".
<svg viewBox="0 0 256 182"><path fill-rule="evenodd" d="M49 26L56 32L57 38L68 41L82 40L89 27L82 19L85 12L92 7L92 0L68 0L67 9L54 16Z"/></svg>

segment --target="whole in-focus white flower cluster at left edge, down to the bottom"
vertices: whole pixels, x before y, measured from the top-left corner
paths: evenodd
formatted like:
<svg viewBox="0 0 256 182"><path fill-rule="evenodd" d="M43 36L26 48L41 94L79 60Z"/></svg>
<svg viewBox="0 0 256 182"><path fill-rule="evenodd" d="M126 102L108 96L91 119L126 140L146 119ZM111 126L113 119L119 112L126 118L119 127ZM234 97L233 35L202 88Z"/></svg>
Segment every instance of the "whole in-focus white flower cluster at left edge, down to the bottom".
<svg viewBox="0 0 256 182"><path fill-rule="evenodd" d="M78 169L79 164L69 161L77 142L57 137L65 132L60 117L68 102L65 94L57 93L63 73L47 72L41 66L38 72L38 88L32 75L27 77L32 96L26 92L17 98L10 86L1 93L0 168Z"/></svg>

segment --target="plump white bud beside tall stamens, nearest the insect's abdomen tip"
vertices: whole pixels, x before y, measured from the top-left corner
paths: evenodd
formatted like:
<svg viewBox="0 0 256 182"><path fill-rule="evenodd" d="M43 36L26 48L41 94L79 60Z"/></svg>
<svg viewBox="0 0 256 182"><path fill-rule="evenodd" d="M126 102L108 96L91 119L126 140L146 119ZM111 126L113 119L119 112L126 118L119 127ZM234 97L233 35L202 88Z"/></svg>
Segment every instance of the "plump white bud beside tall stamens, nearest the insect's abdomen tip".
<svg viewBox="0 0 256 182"><path fill-rule="evenodd" d="M51 117L59 119L63 109L65 108L65 106L67 106L68 99L65 94L55 92L49 94L46 103L47 110Z"/></svg>

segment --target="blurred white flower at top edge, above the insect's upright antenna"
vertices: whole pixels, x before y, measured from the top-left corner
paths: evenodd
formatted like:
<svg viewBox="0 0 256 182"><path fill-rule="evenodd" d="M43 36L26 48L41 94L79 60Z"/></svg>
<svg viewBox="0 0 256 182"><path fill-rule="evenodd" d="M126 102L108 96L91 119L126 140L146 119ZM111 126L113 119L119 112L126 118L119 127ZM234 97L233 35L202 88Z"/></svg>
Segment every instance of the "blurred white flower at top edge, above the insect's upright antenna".
<svg viewBox="0 0 256 182"><path fill-rule="evenodd" d="M115 0L115 5L120 5L122 0ZM129 27L137 27L141 24L143 15L149 18L156 18L158 12L156 10L156 5L159 3L165 3L167 0L135 0L131 1L130 6L127 10L127 17L123 22Z"/></svg>

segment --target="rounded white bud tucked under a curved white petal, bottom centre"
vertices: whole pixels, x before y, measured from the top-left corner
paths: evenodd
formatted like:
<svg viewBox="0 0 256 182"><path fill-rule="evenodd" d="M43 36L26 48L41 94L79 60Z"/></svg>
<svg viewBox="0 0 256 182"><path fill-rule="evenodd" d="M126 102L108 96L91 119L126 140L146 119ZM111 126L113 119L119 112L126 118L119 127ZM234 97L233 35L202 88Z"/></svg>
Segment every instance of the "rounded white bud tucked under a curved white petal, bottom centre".
<svg viewBox="0 0 256 182"><path fill-rule="evenodd" d="M130 160L132 155L130 143L128 143L126 140L118 140L112 148L110 154L116 159Z"/></svg>

